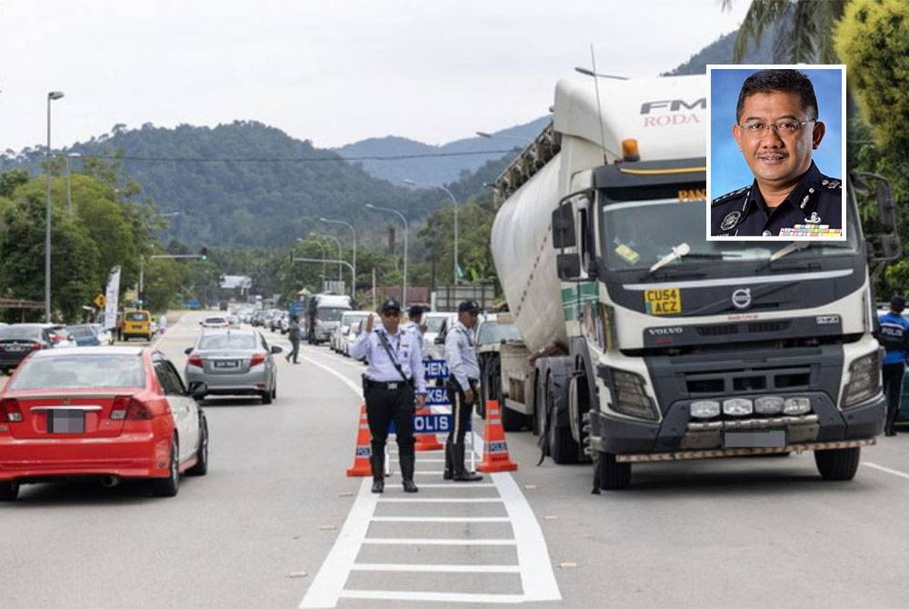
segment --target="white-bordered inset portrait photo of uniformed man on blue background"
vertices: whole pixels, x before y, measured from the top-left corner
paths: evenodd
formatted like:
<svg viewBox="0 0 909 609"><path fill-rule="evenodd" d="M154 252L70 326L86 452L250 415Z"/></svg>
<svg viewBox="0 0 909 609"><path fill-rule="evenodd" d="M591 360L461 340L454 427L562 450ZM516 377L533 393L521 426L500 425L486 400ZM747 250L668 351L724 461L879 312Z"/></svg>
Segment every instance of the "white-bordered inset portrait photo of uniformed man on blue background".
<svg viewBox="0 0 909 609"><path fill-rule="evenodd" d="M708 241L844 241L845 66L708 65Z"/></svg>

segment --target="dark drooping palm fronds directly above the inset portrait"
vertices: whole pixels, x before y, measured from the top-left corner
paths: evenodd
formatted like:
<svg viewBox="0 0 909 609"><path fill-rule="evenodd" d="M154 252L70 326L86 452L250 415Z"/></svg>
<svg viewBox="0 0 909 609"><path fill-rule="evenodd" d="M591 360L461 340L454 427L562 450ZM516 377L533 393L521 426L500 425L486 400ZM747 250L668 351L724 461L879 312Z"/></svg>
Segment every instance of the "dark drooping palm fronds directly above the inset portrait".
<svg viewBox="0 0 909 609"><path fill-rule="evenodd" d="M723 10L734 0L723 0ZM764 32L777 28L774 60L786 64L837 63L831 32L847 0L753 0L735 40L733 61L744 58Z"/></svg>

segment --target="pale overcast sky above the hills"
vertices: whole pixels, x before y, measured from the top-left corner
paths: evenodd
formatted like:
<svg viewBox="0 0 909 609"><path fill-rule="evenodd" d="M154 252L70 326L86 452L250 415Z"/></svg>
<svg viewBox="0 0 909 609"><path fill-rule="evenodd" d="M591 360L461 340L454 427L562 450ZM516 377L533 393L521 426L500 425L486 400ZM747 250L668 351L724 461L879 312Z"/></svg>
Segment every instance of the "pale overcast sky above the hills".
<svg viewBox="0 0 909 609"><path fill-rule="evenodd" d="M318 147L427 144L546 114L574 66L658 75L734 0L0 0L0 152L116 124L256 120Z"/></svg>

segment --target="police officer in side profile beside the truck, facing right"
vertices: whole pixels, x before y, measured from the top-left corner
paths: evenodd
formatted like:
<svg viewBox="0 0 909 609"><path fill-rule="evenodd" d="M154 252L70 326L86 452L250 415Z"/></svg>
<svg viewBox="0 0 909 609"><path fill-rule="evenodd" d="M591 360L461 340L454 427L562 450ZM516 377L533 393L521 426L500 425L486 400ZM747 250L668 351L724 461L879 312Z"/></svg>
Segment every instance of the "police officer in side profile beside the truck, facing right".
<svg viewBox="0 0 909 609"><path fill-rule="evenodd" d="M448 400L452 404L454 424L445 441L445 480L475 482L482 475L464 468L464 434L470 422L471 410L477 397L476 385L480 366L474 351L474 327L480 305L465 300L457 305L457 321L445 334L445 361L448 363Z"/></svg>

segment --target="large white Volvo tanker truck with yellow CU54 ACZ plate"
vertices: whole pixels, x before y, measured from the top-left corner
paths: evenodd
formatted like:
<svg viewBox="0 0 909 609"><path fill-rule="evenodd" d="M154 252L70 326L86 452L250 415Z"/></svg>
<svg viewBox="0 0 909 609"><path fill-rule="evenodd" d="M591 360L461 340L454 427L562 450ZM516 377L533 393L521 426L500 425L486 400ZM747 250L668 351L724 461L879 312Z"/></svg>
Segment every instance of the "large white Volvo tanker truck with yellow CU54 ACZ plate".
<svg viewBox="0 0 909 609"><path fill-rule="evenodd" d="M495 183L524 342L500 353L528 350L487 379L505 424L556 463L589 458L597 490L636 462L799 451L851 479L884 422L868 256L899 255L889 186L876 241L853 186L869 175L847 183L844 242L707 241L705 77L598 85L602 105L592 77L560 81L552 124Z"/></svg>

